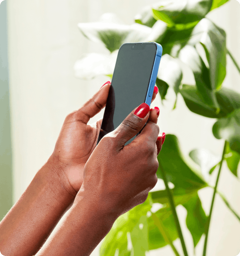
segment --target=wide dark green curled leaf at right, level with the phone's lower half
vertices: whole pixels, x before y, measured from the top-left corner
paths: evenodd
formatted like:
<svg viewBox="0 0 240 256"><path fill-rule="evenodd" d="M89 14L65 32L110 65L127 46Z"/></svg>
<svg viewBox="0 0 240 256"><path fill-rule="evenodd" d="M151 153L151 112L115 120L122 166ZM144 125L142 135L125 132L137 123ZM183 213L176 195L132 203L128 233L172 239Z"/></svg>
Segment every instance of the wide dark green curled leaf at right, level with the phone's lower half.
<svg viewBox="0 0 240 256"><path fill-rule="evenodd" d="M189 110L201 116L221 118L227 116L234 109L240 108L240 94L228 88L221 88L219 91L216 91L216 98L220 107L218 114L215 108L202 102L196 86L183 85L180 93Z"/></svg>

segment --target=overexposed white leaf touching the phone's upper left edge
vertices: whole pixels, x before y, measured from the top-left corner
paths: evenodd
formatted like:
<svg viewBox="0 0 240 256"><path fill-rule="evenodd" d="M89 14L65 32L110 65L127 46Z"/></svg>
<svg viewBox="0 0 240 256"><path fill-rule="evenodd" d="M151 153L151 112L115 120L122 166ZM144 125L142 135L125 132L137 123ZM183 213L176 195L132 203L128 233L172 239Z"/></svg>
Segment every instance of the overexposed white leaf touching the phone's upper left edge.
<svg viewBox="0 0 240 256"><path fill-rule="evenodd" d="M75 62L75 75L81 79L92 79L95 76L107 75L111 78L118 51L112 54L87 53Z"/></svg>

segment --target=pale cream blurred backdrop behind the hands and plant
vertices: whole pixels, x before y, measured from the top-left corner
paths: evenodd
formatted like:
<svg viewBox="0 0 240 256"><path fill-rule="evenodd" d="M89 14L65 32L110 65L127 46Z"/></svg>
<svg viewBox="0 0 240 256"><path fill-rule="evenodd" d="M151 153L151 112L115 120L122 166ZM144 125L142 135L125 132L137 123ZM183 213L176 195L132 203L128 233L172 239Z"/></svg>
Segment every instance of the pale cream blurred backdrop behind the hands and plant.
<svg viewBox="0 0 240 256"><path fill-rule="evenodd" d="M112 12L125 24L153 0L5 0L0 4L0 220L27 188L44 165L55 146L66 115L81 107L109 79L98 76L91 81L75 77L74 64L83 53L108 53L102 44L87 40L79 31L80 22L98 21ZM227 34L227 48L240 63L240 5L236 0L207 15ZM7 55L8 53L8 55ZM164 54L164 49L163 49ZM161 64L159 69L161 68ZM240 93L240 75L227 55L224 87ZM193 79L185 76L183 82ZM193 82L194 83L194 82ZM188 110L178 93L168 90L162 105L160 95L151 107L158 106L160 133L175 134L184 154L194 148L206 148L215 155L222 153L224 140L211 133L216 119L196 115ZM102 110L90 120L95 122ZM194 142L194 144L193 144ZM167 143L167 141L165 142ZM213 181L216 174L211 176ZM227 170L226 163L218 189L240 213L240 182ZM209 213L212 190L199 191L202 206ZM188 247L192 238L186 225L186 210L177 206L180 224ZM190 241L190 242L189 242ZM204 238L196 247L201 255ZM174 242L180 248L180 242ZM99 255L99 247L92 255ZM193 251L189 248L190 252ZM208 255L236 256L240 251L240 222L216 195L211 218ZM150 252L174 255L169 246ZM190 254L191 255L191 254Z"/></svg>

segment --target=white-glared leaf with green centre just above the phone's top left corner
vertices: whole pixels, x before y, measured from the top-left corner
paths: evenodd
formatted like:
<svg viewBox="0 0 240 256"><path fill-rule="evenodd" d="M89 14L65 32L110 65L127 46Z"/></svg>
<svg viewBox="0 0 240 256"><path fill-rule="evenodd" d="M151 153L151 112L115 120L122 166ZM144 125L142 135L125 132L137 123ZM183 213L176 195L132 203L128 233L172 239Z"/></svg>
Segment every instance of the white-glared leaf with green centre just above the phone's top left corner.
<svg viewBox="0 0 240 256"><path fill-rule="evenodd" d="M104 43L105 47L114 52L123 43L148 41L151 28L138 23L125 25L115 18L114 14L104 14L101 21L78 23L82 34L96 43Z"/></svg>

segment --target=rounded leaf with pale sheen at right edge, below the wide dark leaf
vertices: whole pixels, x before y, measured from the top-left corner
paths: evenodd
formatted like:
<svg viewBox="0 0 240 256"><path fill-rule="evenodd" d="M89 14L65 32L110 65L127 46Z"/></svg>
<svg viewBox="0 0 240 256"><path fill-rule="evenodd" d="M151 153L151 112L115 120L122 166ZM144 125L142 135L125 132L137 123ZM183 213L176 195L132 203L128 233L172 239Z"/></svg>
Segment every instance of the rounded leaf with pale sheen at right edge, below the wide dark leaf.
<svg viewBox="0 0 240 256"><path fill-rule="evenodd" d="M217 120L213 125L213 135L217 139L227 140L231 150L240 154L240 109Z"/></svg>

